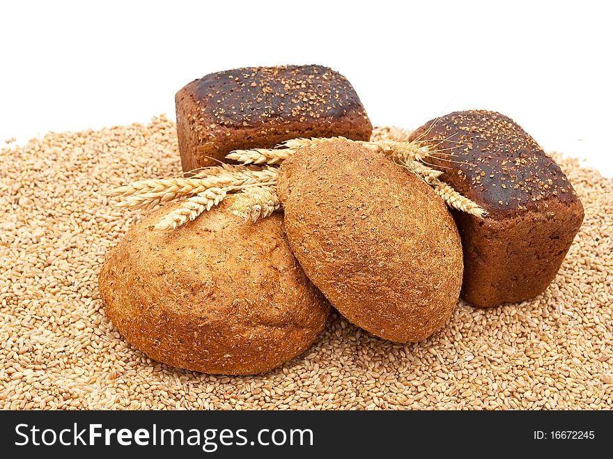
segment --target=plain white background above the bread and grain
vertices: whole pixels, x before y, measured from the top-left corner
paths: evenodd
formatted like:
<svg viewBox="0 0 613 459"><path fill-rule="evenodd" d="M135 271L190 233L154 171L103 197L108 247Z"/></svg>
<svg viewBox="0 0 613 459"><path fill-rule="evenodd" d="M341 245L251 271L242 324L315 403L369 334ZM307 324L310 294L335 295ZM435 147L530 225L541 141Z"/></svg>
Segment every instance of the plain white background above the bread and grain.
<svg viewBox="0 0 613 459"><path fill-rule="evenodd" d="M607 3L2 2L0 141L174 118L176 91L207 73L319 63L374 124L492 109L613 176Z"/></svg>

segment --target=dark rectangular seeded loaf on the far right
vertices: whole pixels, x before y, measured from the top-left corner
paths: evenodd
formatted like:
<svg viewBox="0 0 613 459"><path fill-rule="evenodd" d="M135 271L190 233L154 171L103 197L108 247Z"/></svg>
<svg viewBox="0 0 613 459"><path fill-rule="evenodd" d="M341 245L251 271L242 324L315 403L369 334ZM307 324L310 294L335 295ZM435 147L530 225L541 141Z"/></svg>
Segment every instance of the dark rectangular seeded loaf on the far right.
<svg viewBox="0 0 613 459"><path fill-rule="evenodd" d="M453 217L464 251L462 295L474 306L520 302L554 279L583 221L583 206L559 166L511 118L456 111L419 127L423 141L455 162L432 159L441 179L488 216Z"/></svg>

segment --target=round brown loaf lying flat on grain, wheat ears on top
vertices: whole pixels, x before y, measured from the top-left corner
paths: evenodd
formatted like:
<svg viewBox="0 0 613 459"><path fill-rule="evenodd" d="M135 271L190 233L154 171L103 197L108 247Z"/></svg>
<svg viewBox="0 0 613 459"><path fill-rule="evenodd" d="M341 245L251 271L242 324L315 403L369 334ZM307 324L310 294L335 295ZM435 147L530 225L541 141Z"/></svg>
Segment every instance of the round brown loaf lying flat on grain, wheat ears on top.
<svg viewBox="0 0 613 459"><path fill-rule="evenodd" d="M283 217L245 224L205 212L176 230L143 219L109 252L100 295L139 350L203 373L262 373L300 355L325 326L329 304L290 251Z"/></svg>

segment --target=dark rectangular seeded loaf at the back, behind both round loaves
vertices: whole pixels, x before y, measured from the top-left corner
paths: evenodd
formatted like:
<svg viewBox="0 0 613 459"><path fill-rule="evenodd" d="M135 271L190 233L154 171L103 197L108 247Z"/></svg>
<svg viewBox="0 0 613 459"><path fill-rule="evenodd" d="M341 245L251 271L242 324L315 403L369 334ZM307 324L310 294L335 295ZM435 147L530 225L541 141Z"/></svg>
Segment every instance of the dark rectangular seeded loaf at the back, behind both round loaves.
<svg viewBox="0 0 613 459"><path fill-rule="evenodd" d="M373 130L349 81L321 65L212 73L187 84L175 102L183 171L217 164L211 158L232 150L296 137L368 140Z"/></svg>

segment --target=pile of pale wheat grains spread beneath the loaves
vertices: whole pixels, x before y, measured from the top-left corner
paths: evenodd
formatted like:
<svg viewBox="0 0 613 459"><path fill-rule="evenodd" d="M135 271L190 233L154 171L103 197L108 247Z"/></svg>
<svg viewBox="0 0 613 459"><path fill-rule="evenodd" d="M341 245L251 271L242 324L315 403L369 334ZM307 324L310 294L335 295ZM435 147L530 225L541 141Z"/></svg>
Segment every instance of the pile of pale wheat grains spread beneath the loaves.
<svg viewBox="0 0 613 459"><path fill-rule="evenodd" d="M0 155L0 407L13 409L603 409L613 407L613 180L556 156L585 220L541 296L460 302L427 341L377 339L333 314L302 356L220 378L151 361L104 316L98 272L138 218L98 194L180 174L154 118L47 134Z"/></svg>

